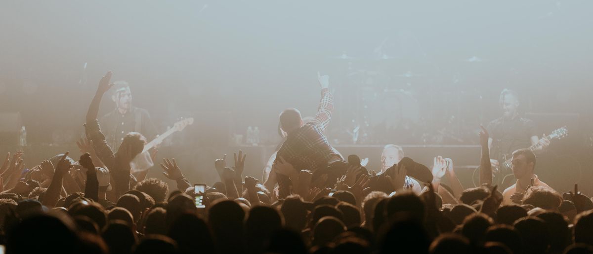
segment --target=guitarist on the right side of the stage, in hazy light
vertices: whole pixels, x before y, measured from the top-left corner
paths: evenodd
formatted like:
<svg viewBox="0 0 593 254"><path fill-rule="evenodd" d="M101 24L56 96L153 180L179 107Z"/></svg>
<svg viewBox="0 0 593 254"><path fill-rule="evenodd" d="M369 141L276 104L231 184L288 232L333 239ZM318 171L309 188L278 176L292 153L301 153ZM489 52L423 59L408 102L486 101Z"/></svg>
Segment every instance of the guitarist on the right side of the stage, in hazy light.
<svg viewBox="0 0 593 254"><path fill-rule="evenodd" d="M537 144L534 152L540 152L550 145L550 140L544 136L539 139L535 132L533 121L521 117L518 112L519 96L517 92L504 89L500 93L500 110L502 117L493 120L487 127L490 133L488 147L490 148L490 163L496 171L506 159L511 159L512 152ZM511 172L502 172L511 173ZM500 183L504 184L504 183Z"/></svg>

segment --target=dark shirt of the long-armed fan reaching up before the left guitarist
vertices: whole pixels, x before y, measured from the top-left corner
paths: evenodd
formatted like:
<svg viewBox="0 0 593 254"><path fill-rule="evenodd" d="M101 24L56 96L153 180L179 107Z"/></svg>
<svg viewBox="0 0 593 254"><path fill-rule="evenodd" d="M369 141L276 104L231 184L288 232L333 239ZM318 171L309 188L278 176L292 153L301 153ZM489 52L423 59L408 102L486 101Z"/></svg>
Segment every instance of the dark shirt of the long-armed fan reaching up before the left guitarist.
<svg viewBox="0 0 593 254"><path fill-rule="evenodd" d="M105 135L101 132L101 127L97 120L92 123L84 124L88 140L93 140L93 148L97 157L107 167L110 175L113 177L114 187L117 197L130 189L130 164L118 163L111 147L107 144Z"/></svg>

